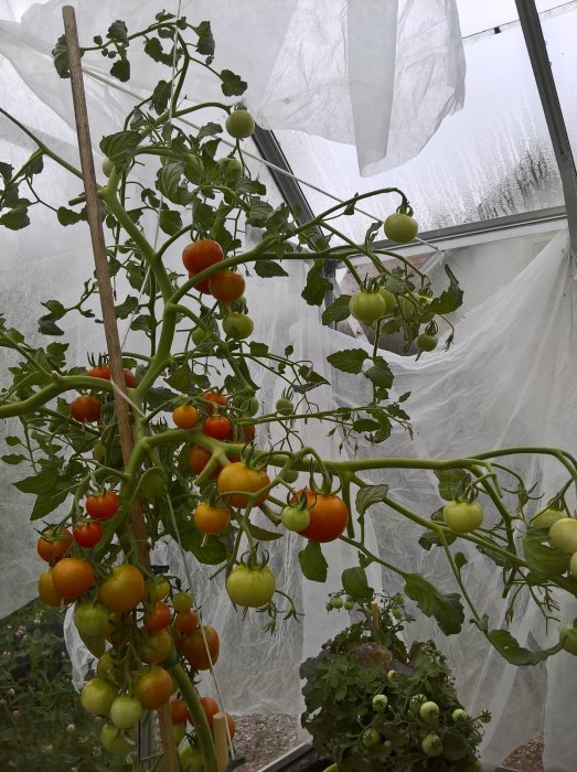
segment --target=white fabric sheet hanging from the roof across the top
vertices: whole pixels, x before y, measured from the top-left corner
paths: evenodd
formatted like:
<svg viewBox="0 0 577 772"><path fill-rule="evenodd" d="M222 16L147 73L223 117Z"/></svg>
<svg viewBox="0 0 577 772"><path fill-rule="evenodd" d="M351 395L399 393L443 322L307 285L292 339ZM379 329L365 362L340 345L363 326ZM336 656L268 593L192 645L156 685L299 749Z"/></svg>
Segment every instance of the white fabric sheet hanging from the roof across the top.
<svg viewBox="0 0 577 772"><path fill-rule="evenodd" d="M62 34L67 0L29 3L21 22L0 21L0 54L9 57L34 92L65 120L72 115L70 84L46 68ZM121 18L129 31L143 29L159 3L67 3L77 7L81 45ZM165 10L177 11L177 3ZM0 6L0 11L2 7ZM22 12L4 7L4 14ZM362 174L374 174L417 153L445 116L462 106L464 61L455 0L183 0L181 14L210 20L216 40L213 66L241 74L244 95L265 128L286 128L354 146ZM398 19L398 23L397 23ZM147 93L167 77L140 50L131 50L130 88ZM86 69L108 77L108 60ZM184 88L193 101L222 100L216 78L193 68ZM88 85L98 105L94 128L118 130L121 97L101 83ZM406 127L410 125L412 131Z"/></svg>

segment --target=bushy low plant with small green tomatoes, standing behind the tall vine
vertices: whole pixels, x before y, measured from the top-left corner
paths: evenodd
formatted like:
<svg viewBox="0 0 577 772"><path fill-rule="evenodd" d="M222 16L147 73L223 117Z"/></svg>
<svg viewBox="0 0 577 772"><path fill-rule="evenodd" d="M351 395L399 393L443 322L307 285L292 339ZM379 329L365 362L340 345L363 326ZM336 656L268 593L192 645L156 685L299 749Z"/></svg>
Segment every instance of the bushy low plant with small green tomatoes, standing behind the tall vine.
<svg viewBox="0 0 577 772"><path fill-rule="evenodd" d="M325 772L471 772L488 711L470 717L457 697L446 657L432 641L407 647L410 621L400 596L372 603L332 596L328 610L359 621L323 644L300 668L302 726ZM320 769L320 768L319 768Z"/></svg>

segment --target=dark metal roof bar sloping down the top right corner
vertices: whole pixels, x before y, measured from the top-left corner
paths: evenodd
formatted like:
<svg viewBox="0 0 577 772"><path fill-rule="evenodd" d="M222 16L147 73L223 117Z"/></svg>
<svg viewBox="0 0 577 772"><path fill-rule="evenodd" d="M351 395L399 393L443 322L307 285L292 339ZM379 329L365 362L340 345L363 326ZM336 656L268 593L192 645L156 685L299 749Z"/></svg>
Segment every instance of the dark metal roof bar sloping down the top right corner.
<svg viewBox="0 0 577 772"><path fill-rule="evenodd" d="M534 0L515 0L531 66L559 168L571 250L577 254L577 171Z"/></svg>

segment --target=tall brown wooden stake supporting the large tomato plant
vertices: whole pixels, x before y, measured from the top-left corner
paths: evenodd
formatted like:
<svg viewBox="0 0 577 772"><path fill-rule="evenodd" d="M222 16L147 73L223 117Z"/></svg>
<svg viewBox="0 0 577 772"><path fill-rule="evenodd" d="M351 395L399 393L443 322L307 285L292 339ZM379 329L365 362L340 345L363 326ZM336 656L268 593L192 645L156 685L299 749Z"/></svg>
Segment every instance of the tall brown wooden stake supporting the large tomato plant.
<svg viewBox="0 0 577 772"><path fill-rule="evenodd" d="M104 331L110 362L111 376L126 394L125 375L122 368L122 352L118 335L113 286L106 255L106 242L100 219L100 202L97 194L96 174L94 171L94 158L88 125L88 111L86 109L86 96L81 65L81 52L78 45L78 31L76 17L72 6L62 9L64 18L64 32L68 46L68 64L72 82L72 97L74 101L74 117L76 119L76 133L78 136L78 149L81 153L84 190L86 193L86 213L90 227L94 261L96 267L96 281L100 294L103 310ZM115 390L115 414L120 435L120 448L125 467L128 464L135 448L135 438L130 422L128 403ZM142 503L136 498L130 508L132 533L138 546L138 555L146 569L150 569L150 557L147 549L147 528L142 513ZM177 746L172 736L172 725L168 705L159 710L160 735L165 772L178 772Z"/></svg>

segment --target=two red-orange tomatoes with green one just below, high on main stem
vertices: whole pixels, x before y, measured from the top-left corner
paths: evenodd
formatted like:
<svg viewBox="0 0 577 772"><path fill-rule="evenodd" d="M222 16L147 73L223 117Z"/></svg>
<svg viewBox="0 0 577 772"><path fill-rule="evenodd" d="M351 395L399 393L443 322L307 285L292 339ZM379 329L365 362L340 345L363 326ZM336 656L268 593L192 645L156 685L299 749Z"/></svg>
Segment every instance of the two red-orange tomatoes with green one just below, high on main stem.
<svg viewBox="0 0 577 772"><path fill-rule="evenodd" d="M224 260L221 245L212 238L200 238L188 244L182 251L182 262L189 271L189 277L194 276ZM242 301L245 291L245 280L238 271L223 268L214 272L209 279L194 282L194 289L203 294L211 294L221 303L235 303ZM239 311L226 310L223 317L223 331L234 340L248 337L254 329L250 317Z"/></svg>

